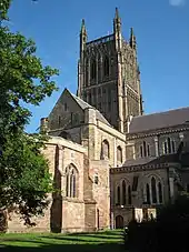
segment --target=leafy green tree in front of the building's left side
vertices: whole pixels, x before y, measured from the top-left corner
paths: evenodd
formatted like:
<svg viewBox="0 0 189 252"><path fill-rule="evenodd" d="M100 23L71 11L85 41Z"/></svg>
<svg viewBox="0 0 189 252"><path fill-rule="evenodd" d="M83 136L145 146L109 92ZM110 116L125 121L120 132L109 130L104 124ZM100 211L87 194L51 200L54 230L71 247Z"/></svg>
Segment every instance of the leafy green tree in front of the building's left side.
<svg viewBox="0 0 189 252"><path fill-rule="evenodd" d="M39 105L57 90L51 77L58 70L42 65L32 40L6 27L10 3L0 0L0 210L17 208L31 224L48 205L52 183L40 151L47 137L24 132L31 117L27 104Z"/></svg>

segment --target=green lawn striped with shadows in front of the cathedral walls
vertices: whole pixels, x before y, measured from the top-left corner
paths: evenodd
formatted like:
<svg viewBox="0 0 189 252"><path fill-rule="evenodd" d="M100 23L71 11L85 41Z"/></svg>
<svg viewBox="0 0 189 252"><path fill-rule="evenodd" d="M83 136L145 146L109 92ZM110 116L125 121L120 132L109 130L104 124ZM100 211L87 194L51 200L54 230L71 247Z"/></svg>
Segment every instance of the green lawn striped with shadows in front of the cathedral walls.
<svg viewBox="0 0 189 252"><path fill-rule="evenodd" d="M105 231L80 234L0 234L0 251L119 252L125 250L121 231Z"/></svg>

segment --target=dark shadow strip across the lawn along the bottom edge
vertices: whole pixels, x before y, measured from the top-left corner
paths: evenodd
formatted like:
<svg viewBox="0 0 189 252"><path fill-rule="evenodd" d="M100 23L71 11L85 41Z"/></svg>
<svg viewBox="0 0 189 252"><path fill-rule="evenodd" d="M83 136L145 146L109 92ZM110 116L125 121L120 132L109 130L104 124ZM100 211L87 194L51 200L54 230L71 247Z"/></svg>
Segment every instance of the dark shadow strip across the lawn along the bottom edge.
<svg viewBox="0 0 189 252"><path fill-rule="evenodd" d="M3 252L44 252L44 251L53 251L53 252L121 252L123 250L122 244L115 244L115 243L98 243L98 244L42 244L42 242L39 241L39 243L34 244L37 241L32 241L34 246L16 246L16 245L0 245L0 251ZM125 251L126 252L126 251Z"/></svg>

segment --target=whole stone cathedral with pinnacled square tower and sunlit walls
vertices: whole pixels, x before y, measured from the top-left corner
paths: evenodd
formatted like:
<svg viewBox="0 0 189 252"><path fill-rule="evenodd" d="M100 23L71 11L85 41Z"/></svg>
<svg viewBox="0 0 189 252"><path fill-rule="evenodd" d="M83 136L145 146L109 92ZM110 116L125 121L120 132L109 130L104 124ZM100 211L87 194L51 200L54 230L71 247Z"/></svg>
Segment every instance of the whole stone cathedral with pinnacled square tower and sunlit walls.
<svg viewBox="0 0 189 252"><path fill-rule="evenodd" d="M157 100L158 102L158 100ZM64 89L40 129L56 188L44 216L10 232L90 232L141 221L189 191L189 108L145 114L137 41L113 32L93 41L82 20L77 94Z"/></svg>

